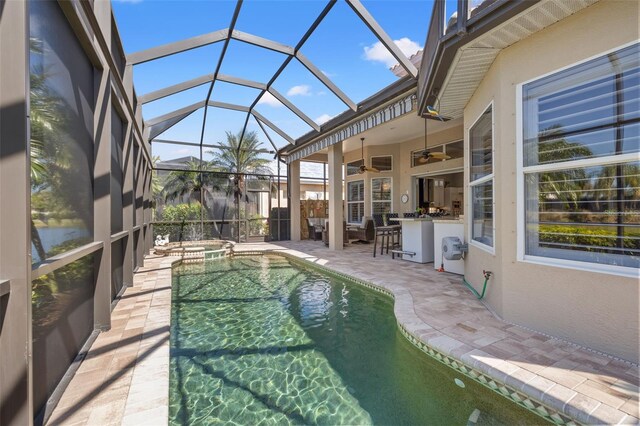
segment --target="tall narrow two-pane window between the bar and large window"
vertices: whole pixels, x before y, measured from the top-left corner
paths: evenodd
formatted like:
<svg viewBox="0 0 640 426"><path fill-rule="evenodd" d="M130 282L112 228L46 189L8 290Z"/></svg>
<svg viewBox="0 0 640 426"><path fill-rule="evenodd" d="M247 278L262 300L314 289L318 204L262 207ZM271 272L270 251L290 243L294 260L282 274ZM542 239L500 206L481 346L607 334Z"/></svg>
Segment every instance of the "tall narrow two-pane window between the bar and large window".
<svg viewBox="0 0 640 426"><path fill-rule="evenodd" d="M493 112L490 106L469 130L471 241L493 248Z"/></svg>

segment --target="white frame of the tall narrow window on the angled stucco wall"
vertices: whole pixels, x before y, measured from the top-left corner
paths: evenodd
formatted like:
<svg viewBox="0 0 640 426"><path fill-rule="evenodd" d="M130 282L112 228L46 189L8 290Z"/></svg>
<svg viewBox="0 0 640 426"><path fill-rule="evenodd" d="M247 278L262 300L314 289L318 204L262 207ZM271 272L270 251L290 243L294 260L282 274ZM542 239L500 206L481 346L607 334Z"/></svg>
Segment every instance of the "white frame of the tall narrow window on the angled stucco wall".
<svg viewBox="0 0 640 426"><path fill-rule="evenodd" d="M476 124L484 117L488 110L491 110L491 173L482 176L478 179L473 179L471 176L473 167L473 153L471 146L471 132L475 128ZM495 255L496 250L496 186L495 186L495 106L493 100L482 110L482 113L476 117L469 130L467 131L467 140L469 141L469 155L467 156L467 170L469 170L469 188L467 192L467 199L469 200L469 218L470 223L468 227L468 241L474 247L484 250L490 254ZM481 241L474 239L474 189L491 183L491 216L493 218L493 226L491 233L492 245L484 244Z"/></svg>

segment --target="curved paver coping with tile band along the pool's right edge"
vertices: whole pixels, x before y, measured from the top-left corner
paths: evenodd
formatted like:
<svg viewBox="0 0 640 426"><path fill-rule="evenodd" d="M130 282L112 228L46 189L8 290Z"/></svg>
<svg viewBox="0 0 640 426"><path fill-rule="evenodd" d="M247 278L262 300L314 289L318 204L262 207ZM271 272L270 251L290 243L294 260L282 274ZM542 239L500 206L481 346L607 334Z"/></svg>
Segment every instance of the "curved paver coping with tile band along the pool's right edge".
<svg viewBox="0 0 640 426"><path fill-rule="evenodd" d="M286 250L286 249L285 249ZM563 395L554 395L553 387L540 389L536 387L539 380L543 383L543 377L535 375L526 381L511 375L518 369L517 366L491 357L480 349L473 349L468 352L456 352L459 342L443 333L437 336L424 339L420 332L425 330L433 331L433 328L420 319L414 309L413 296L407 289L396 287L384 287L384 285L373 284L358 277L354 277L344 272L339 272L330 267L313 262L307 258L300 257L294 253L280 249L250 249L231 251L231 256L251 256L251 255L277 255L293 260L294 263L302 267L308 267L323 273L327 273L335 278L343 279L391 297L394 301L394 315L400 332L415 347L426 353L436 361L454 369L455 371L471 378L475 382L491 389L498 395L510 400L557 425L577 425L577 424L606 424L606 421L595 417L582 407L572 404L562 398ZM426 340L426 341L425 341ZM611 407L612 410L615 410Z"/></svg>

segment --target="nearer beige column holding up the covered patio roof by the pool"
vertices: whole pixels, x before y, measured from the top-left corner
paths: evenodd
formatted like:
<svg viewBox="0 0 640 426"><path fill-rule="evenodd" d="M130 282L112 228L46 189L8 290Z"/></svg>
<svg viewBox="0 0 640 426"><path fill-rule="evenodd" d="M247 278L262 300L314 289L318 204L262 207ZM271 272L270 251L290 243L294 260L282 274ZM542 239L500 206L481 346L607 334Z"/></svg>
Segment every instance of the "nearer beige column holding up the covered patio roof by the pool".
<svg viewBox="0 0 640 426"><path fill-rule="evenodd" d="M329 147L329 249L342 250L342 142Z"/></svg>

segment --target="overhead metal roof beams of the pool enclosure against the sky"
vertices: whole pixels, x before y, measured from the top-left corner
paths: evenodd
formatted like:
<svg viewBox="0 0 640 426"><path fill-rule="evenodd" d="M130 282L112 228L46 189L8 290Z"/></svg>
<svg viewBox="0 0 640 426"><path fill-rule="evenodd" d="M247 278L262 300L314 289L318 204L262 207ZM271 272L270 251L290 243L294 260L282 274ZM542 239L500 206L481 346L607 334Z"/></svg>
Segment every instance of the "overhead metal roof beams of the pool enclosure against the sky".
<svg viewBox="0 0 640 426"><path fill-rule="evenodd" d="M398 61L398 63L405 69L408 75L412 76L414 79L417 78L418 70L411 63L411 61L402 53L400 48L396 46L391 37L387 35L387 33L382 29L382 27L376 22L373 16L368 12L368 10L364 7L364 5L360 2L360 0L345 0L346 3L351 7L354 13L358 16L360 20L369 28L369 30L375 35L375 37L384 45L384 47L391 53L391 55ZM222 52L220 57L218 58L215 70L212 74L203 75L200 77L196 77L194 79L184 81L178 84L174 84L159 90L155 90L150 93L146 93L139 97L139 102L141 104L146 104L170 95L174 95L180 92L184 92L186 90L209 84L209 89L207 92L207 96L204 100L200 102L196 102L192 105L188 105L177 110L171 111L169 113L163 114L158 117L154 117L148 120L145 120L145 137L153 143L153 140L159 136L160 134L167 131L169 128L173 127L195 111L200 108L204 108L203 122L202 122L202 131L200 133L200 142L199 144L183 142L183 144L199 146L204 144L204 131L207 122L207 107L214 108L222 108L233 111L240 111L246 113L246 118L244 121L244 126L240 133L240 140L243 140L243 136L246 133L247 125L249 123L249 119L253 117L261 130L264 132L267 140L272 145L275 151L278 151L282 147L277 147L272 138L266 132L264 126L267 126L272 131L280 135L284 140L286 140L289 144L294 144L295 139L284 132L282 129L278 128L274 123L260 114L255 110L256 105L259 100L268 93L269 95L276 98L280 103L282 103L289 111L295 114L299 119L304 121L309 127L311 127L315 132L320 133L322 128L319 124L309 118L306 114L304 114L293 102L289 101L285 96L279 93L274 87L273 84L277 80L277 78L282 74L282 72L287 68L289 63L296 59L300 64L302 64L317 80L319 80L327 89L329 89L336 97L338 97L349 109L352 111L357 111L357 104L352 101L336 84L334 84L331 79L325 75L313 62L311 62L302 52L301 49L305 42L311 37L314 31L321 24L323 19L329 14L331 9L337 3L336 0L330 0L327 2L324 9L319 13L315 21L311 24L309 29L304 33L304 35L300 38L299 42L294 46L287 46L272 40L268 40L266 38L262 38L253 34L248 34L242 31L238 31L235 29L236 22L238 20L238 16L240 14L240 10L242 8L242 0L238 0L236 3L236 7L234 9L233 15L231 17L231 21L229 27L226 29L217 30L208 34L202 34L199 36L187 38L184 40L176 41L173 43L165 44L162 46L152 47L143 51L131 53L127 55L127 66L135 66L138 64L142 64L149 61L154 61L160 58L164 58L170 55L175 55L177 53L185 52L188 50L196 49L203 46L208 46L214 43L223 43ZM280 65L280 67L275 71L275 73L271 76L268 82L256 82L243 78L239 78L236 76L225 75L220 73L220 69L222 67L222 63L225 58L225 54L227 48L229 46L229 42L231 40L236 40L239 42L247 43L250 45L257 46L261 49L266 49L273 52L278 52L286 55L286 59ZM211 101L211 94L213 92L214 86L216 82L221 81L233 85L250 87L253 89L257 89L260 91L259 95L256 96L251 105L236 105L226 102L216 102ZM180 142L180 141L178 141Z"/></svg>

